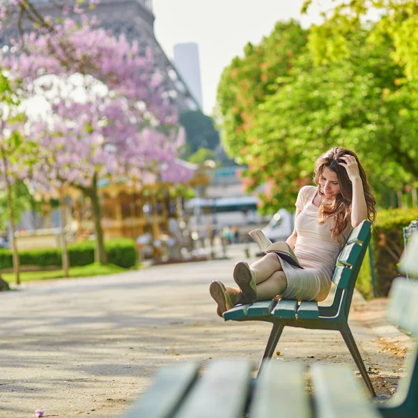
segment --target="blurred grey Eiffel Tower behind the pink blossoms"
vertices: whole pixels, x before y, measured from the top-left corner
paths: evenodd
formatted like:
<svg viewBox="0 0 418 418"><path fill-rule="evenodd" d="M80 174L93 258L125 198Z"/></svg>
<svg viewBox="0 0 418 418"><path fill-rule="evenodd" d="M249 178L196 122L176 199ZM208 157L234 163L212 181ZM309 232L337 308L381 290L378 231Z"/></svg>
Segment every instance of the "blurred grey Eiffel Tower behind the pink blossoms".
<svg viewBox="0 0 418 418"><path fill-rule="evenodd" d="M31 3L42 16L61 15L54 0L31 0ZM88 10L87 15L97 16L100 26L110 30L116 38L123 33L130 42L136 40L140 54L150 47L155 65L162 74L166 94L176 104L179 113L200 109L187 84L155 38L153 0L100 0L93 10ZM24 26L30 28L27 22ZM10 38L18 35L16 21L11 19L8 28L0 32L0 47L8 45Z"/></svg>

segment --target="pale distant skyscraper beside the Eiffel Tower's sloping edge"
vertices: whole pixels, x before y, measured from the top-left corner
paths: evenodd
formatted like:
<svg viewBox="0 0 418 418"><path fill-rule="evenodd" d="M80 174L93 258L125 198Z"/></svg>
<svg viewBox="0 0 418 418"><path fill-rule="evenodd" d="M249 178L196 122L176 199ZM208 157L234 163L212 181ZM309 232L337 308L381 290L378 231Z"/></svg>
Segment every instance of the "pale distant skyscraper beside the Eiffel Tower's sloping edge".
<svg viewBox="0 0 418 418"><path fill-rule="evenodd" d="M174 45L174 65L193 97L202 107L202 85L199 46L194 42Z"/></svg>

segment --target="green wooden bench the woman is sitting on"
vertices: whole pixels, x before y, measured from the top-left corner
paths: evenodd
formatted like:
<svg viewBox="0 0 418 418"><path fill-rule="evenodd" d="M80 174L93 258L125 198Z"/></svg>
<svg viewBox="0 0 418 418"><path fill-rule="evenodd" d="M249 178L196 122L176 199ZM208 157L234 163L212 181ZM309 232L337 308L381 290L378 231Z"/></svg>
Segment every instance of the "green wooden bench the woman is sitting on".
<svg viewBox="0 0 418 418"><path fill-rule="evenodd" d="M336 291L332 304L327 307L318 306L318 302L300 302L281 299L265 300L254 304L243 304L233 307L224 313L225 320L260 320L273 324L258 372L261 371L265 359L270 359L277 346L284 327L302 327L314 330L336 330L341 332L351 355L357 364L366 386L372 396L376 393L371 384L366 366L359 353L353 334L348 326L351 299L355 281L366 254L371 236L371 223L362 222L353 229L346 245L341 250L336 262L332 281Z"/></svg>

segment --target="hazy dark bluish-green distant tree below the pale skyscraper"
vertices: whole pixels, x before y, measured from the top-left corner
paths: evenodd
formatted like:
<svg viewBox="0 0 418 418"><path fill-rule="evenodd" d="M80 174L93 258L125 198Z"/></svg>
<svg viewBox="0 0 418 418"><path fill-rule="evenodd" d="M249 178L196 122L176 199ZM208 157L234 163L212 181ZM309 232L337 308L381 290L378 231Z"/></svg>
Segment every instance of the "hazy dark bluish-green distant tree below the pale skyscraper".
<svg viewBox="0 0 418 418"><path fill-rule="evenodd" d="M180 115L180 124L183 125L186 132L183 157L189 157L199 148L215 150L219 144L219 132L215 130L212 118L201 111L185 111Z"/></svg>

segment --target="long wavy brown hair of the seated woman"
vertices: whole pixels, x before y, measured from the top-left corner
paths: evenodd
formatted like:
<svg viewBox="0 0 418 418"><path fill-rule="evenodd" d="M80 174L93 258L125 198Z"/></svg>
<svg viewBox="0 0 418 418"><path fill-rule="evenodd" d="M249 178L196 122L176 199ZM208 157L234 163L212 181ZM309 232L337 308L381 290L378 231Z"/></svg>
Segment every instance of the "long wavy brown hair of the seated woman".
<svg viewBox="0 0 418 418"><path fill-rule="evenodd" d="M353 155L357 161L360 178L362 178L363 183L364 197L366 199L367 219L371 222L374 222L376 219L376 199L371 192L369 183L367 183L366 173L362 164L360 164L357 155L347 148L331 148L316 160L314 183L316 183L316 186L318 187L318 193L323 194L323 190L320 187L320 177L322 176L324 167L328 167L330 170L334 171L338 177L340 193L333 201L321 204L319 209L319 224L324 224L327 222L327 219L334 217L334 226L331 229L331 236L339 240L350 222L351 203L353 201L353 185L348 178L346 169L338 164L339 162L343 162L340 158L343 157L344 154Z"/></svg>

